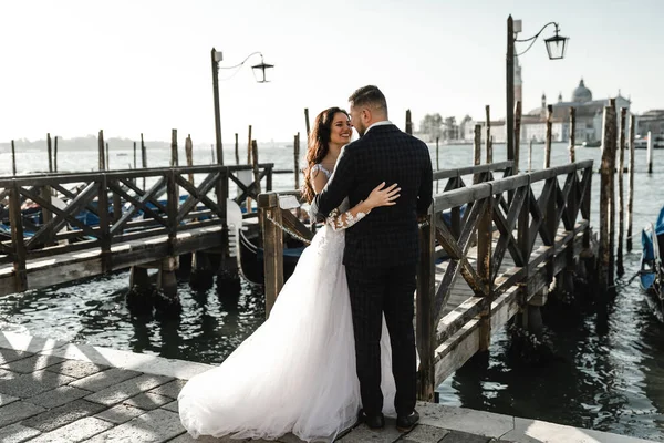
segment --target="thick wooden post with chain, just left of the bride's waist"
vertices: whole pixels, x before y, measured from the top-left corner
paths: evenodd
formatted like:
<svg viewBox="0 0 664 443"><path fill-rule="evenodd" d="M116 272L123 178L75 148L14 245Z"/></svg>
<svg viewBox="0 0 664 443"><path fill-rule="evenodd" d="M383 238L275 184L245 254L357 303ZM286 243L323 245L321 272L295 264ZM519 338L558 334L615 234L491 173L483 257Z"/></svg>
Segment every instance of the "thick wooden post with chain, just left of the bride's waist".
<svg viewBox="0 0 664 443"><path fill-rule="evenodd" d="M256 145L252 144L253 146ZM269 318L277 296L283 287L283 231L277 225L282 223L279 196L274 193L260 194L258 208L263 226L266 317Z"/></svg>

